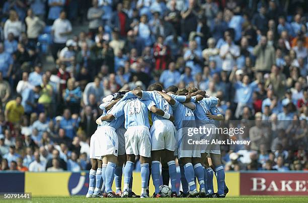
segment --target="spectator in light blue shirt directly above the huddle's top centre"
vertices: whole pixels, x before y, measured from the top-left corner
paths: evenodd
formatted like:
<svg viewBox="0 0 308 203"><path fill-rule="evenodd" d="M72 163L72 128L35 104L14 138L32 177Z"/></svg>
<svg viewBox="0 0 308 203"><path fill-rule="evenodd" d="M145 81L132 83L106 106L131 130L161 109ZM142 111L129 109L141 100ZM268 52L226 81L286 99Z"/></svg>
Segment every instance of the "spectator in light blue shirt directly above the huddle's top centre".
<svg viewBox="0 0 308 203"><path fill-rule="evenodd" d="M160 77L160 82L163 83L165 88L179 83L181 74L175 68L175 63L171 62L169 64L169 69L163 71Z"/></svg>

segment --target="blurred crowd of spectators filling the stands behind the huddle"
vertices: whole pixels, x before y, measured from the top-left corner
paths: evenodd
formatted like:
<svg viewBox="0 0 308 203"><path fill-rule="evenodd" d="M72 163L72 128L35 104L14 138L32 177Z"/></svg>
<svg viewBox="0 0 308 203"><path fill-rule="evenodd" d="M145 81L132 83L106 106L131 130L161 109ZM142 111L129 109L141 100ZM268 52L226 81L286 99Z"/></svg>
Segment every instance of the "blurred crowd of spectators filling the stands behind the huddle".
<svg viewBox="0 0 308 203"><path fill-rule="evenodd" d="M221 146L226 170L308 170L307 6L1 1L0 170L88 170L102 98L154 82L206 90L224 127L250 126L231 138L250 146Z"/></svg>

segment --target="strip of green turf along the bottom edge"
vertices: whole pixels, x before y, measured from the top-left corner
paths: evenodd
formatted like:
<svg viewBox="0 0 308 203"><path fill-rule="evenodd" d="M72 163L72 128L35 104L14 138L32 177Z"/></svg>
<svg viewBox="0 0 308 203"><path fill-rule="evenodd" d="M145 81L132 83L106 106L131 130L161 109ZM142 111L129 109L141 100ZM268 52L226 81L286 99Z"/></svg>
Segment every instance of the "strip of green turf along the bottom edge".
<svg viewBox="0 0 308 203"><path fill-rule="evenodd" d="M1 200L0 200L1 202ZM21 202L15 200L2 201L2 202ZM84 196L73 197L33 197L32 200L24 200L22 202L308 202L308 196L240 196L240 197L226 197L224 199L218 198L86 198Z"/></svg>

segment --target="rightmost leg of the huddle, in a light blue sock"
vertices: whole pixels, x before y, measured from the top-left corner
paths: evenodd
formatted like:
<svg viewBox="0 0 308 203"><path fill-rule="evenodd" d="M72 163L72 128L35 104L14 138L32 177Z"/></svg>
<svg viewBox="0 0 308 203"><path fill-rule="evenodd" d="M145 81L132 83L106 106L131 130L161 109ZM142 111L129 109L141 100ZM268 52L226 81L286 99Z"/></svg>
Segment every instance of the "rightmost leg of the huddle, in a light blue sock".
<svg viewBox="0 0 308 203"><path fill-rule="evenodd" d="M210 156L211 156L212 163L215 167L215 172L216 172L215 174L216 174L216 177L217 177L217 187L218 187L217 194L220 197L224 197L225 196L225 194L224 194L225 174L224 174L223 166L221 164L220 153L219 154L218 153L210 153Z"/></svg>

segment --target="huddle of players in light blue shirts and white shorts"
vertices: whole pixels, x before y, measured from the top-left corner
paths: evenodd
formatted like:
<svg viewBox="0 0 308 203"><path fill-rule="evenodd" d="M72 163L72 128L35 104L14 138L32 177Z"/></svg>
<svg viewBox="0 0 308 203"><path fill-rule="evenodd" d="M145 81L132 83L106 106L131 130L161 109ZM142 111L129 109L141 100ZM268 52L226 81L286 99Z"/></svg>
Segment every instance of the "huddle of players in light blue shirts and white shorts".
<svg viewBox="0 0 308 203"><path fill-rule="evenodd" d="M98 127L90 141L87 197L149 197L150 176L155 186L152 197L225 197L228 188L219 145L190 145L188 139L200 140L202 135L187 133L192 126L218 127L223 116L217 103L218 98L195 87L172 85L164 91L158 83L147 91L136 87L104 97L103 114L96 120ZM214 134L206 137L215 139ZM132 191L136 158L141 167L140 195ZM177 188L176 159L182 191ZM213 174L217 192L213 191ZM113 181L116 191L112 191ZM162 183L171 184L170 194L162 192Z"/></svg>

